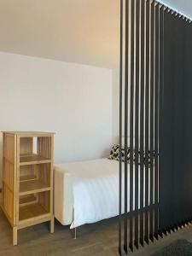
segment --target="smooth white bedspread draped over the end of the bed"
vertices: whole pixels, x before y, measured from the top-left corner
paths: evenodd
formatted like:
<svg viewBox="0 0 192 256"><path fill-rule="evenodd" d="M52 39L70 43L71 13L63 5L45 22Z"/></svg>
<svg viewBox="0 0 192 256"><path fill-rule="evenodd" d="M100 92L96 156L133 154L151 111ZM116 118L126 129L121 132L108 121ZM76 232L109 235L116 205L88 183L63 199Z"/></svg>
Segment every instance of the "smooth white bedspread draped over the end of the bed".
<svg viewBox="0 0 192 256"><path fill-rule="evenodd" d="M83 224L112 218L119 214L118 161L108 159L90 160L57 165L56 169L64 170L72 180L72 229ZM56 183L55 186L57 186ZM127 203L129 211L129 201Z"/></svg>

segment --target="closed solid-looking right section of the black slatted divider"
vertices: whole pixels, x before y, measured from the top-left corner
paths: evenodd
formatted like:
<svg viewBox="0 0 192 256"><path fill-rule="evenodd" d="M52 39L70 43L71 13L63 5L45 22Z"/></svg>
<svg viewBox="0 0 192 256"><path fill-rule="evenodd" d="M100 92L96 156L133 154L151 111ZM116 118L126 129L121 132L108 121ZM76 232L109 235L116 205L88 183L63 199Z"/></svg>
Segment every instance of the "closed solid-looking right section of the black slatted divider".
<svg viewBox="0 0 192 256"><path fill-rule="evenodd" d="M167 233L188 224L192 217L192 26L183 17L167 11L164 22L164 87L160 89L163 99L160 115L160 230Z"/></svg>

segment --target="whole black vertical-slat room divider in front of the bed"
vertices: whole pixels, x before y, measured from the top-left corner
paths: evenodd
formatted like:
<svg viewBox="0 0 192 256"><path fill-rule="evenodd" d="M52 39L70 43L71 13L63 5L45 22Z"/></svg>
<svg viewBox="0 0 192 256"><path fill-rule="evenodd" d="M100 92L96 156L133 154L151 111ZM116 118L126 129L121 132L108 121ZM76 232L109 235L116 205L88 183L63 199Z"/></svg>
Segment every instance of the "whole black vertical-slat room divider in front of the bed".
<svg viewBox="0 0 192 256"><path fill-rule="evenodd" d="M120 6L120 148L125 125L125 175L121 150L119 160L121 254L123 187L125 253L128 241L133 251L133 244L138 248L139 241L144 245L192 221L192 24L154 1L120 0Z"/></svg>

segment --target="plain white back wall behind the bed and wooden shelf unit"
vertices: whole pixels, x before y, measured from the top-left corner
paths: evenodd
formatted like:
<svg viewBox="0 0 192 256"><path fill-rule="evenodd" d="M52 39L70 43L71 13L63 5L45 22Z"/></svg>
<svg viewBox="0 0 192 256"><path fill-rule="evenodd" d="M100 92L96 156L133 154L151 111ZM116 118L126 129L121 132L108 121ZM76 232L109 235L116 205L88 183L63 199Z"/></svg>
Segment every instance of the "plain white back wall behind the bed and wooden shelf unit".
<svg viewBox="0 0 192 256"><path fill-rule="evenodd" d="M108 155L112 98L109 69L0 53L0 130L55 131L55 162Z"/></svg>

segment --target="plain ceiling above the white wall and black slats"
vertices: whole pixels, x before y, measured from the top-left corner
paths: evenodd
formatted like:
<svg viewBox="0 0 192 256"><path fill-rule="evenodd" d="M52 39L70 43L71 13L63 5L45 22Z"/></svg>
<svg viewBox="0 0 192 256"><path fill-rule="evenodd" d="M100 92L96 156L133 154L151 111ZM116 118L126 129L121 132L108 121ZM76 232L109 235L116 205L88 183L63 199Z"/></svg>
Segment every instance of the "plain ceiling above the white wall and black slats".
<svg viewBox="0 0 192 256"><path fill-rule="evenodd" d="M163 2L192 17L191 0ZM0 35L0 51L114 67L119 0L0 0Z"/></svg>

